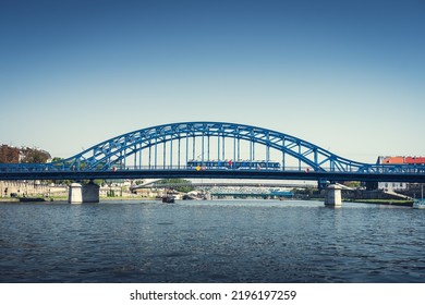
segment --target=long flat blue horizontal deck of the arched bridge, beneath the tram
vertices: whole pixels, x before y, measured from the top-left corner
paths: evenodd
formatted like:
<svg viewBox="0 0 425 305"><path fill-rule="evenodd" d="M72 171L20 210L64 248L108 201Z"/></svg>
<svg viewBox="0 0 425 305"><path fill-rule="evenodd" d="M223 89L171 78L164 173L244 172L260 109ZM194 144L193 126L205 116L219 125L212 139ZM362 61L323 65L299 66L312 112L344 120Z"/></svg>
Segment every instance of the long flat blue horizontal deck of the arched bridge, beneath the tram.
<svg viewBox="0 0 425 305"><path fill-rule="evenodd" d="M256 179L256 180L305 180L305 181L364 181L425 183L425 172L331 172L331 171L281 171L281 170L222 170L208 169L127 169L109 171L28 170L0 171L0 180L95 180L95 179Z"/></svg>

